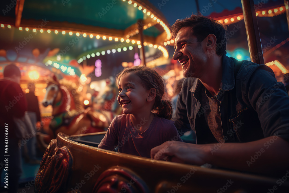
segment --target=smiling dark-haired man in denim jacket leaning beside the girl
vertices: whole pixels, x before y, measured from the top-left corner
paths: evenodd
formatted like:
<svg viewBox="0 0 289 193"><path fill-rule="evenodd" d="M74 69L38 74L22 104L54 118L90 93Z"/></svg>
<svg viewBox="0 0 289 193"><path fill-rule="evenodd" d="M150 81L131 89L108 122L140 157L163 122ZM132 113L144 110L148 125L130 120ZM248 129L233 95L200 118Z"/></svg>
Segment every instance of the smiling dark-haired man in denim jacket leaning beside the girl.
<svg viewBox="0 0 289 193"><path fill-rule="evenodd" d="M215 20L192 15L177 20L171 31L173 59L186 77L173 119L179 130L190 124L197 144L165 142L151 150L151 158L285 174L289 98L284 84L265 65L225 56L227 30Z"/></svg>

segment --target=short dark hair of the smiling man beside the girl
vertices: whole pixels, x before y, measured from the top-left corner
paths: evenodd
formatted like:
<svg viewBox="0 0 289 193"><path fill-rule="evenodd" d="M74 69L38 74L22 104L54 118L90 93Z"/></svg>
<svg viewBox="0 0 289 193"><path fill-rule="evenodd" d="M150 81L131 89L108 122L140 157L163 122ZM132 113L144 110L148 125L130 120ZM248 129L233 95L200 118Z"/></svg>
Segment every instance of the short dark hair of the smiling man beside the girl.
<svg viewBox="0 0 289 193"><path fill-rule="evenodd" d="M216 54L222 56L227 54L227 27L220 22L201 15L191 15L186 19L178 19L171 28L172 37L176 38L182 27L192 27L191 33L196 36L198 42L203 41L209 34L217 38Z"/></svg>

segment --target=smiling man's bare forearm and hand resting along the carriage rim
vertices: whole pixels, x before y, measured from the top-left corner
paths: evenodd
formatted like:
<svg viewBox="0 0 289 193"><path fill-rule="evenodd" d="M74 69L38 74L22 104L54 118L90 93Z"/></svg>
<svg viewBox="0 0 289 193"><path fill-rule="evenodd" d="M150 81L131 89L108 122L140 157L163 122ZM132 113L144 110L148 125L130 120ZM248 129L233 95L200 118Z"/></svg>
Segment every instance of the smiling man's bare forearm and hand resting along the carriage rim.
<svg viewBox="0 0 289 193"><path fill-rule="evenodd" d="M151 158L192 165L209 163L235 170L273 174L289 168L289 142L275 135L247 143L218 146L166 141L151 149Z"/></svg>

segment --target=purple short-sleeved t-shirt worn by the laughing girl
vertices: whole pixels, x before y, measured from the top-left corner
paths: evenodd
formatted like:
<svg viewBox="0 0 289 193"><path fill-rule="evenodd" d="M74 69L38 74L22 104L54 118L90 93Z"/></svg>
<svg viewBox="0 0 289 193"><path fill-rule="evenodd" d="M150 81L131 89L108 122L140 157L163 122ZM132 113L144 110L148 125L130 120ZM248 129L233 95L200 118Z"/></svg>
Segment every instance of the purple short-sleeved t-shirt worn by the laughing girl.
<svg viewBox="0 0 289 193"><path fill-rule="evenodd" d="M135 127L140 128L145 121ZM118 146L118 152L150 158L152 148L173 140L182 141L174 121L155 115L149 128L139 134L131 124L130 114L124 114L114 117L98 147L113 150Z"/></svg>

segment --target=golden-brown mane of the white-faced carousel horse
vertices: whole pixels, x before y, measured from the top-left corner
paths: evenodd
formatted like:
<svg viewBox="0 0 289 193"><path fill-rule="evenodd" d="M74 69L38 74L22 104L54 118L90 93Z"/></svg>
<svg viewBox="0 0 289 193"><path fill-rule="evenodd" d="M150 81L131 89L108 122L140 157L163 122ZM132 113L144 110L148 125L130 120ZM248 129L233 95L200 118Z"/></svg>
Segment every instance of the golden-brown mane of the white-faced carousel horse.
<svg viewBox="0 0 289 193"><path fill-rule="evenodd" d="M75 82L71 82L71 81L63 80L63 79L59 80L59 82L57 82L57 81L55 81L53 79L48 79L47 80L47 85L49 83L66 87L68 89L68 91L71 93L72 97L73 97L74 104L75 104L75 109L77 111L80 111L81 109L83 109L83 106L82 106L83 103L80 100L80 93L79 93L79 90L78 90L78 86L75 84Z"/></svg>

